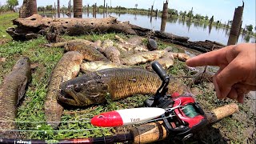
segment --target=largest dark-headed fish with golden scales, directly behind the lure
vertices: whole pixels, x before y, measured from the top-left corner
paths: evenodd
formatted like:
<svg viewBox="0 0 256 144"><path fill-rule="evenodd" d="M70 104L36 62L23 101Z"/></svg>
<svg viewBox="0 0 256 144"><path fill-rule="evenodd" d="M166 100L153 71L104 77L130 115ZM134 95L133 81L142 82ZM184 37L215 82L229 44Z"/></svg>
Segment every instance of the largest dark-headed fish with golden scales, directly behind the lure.
<svg viewBox="0 0 256 144"><path fill-rule="evenodd" d="M105 69L62 82L58 100L73 106L88 106L106 102L106 95L112 100L134 94L155 94L162 81L158 74L141 69ZM186 86L171 79L168 93L186 91Z"/></svg>

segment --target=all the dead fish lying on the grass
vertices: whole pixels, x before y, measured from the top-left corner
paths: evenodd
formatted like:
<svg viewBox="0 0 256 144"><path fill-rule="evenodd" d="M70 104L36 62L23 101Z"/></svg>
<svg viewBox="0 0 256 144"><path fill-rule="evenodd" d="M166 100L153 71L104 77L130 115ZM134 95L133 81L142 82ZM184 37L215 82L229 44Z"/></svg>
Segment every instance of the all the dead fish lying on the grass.
<svg viewBox="0 0 256 144"><path fill-rule="evenodd" d="M46 44L50 47L64 47L66 51L52 70L44 104L46 121L54 129L61 121L63 103L70 106L90 106L106 102L106 96L118 100L134 94L154 94L161 85L161 80L151 70L150 62L158 61L168 69L174 65L174 58L181 61L189 58L186 54L172 53L168 48L158 50L154 39L134 37L126 41L117 35L115 38L118 42L75 39ZM138 66L144 63L147 63L148 70ZM31 78L30 67L26 69L28 66L29 59L21 58L0 86L2 121L15 118L15 106ZM19 69L18 74L16 69ZM85 74L77 77L79 71ZM187 87L178 79L172 78L168 90L169 94L182 94L187 91ZM6 106L10 106L8 112L4 110ZM14 129L14 126L0 123L0 128Z"/></svg>

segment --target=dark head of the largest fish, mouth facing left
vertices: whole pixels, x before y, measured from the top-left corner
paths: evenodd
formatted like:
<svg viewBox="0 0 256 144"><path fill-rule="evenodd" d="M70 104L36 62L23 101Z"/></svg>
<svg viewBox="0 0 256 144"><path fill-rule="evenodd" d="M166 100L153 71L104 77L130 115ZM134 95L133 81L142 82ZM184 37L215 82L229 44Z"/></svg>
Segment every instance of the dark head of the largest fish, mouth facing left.
<svg viewBox="0 0 256 144"><path fill-rule="evenodd" d="M89 77L89 78L88 78ZM88 106L106 101L108 85L89 75L62 82L58 100L73 106Z"/></svg>

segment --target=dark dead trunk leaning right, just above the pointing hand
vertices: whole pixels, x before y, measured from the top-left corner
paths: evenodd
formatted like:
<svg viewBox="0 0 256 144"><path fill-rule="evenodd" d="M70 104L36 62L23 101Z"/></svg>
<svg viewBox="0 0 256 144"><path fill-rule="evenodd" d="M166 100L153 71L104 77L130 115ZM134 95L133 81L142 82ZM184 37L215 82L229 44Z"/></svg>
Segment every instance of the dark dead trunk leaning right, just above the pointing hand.
<svg viewBox="0 0 256 144"><path fill-rule="evenodd" d="M238 8L234 10L234 18L233 18L232 26L230 29L230 37L227 42L227 45L234 45L238 41L240 28L242 26L243 8L244 8L244 2L242 2L242 6L238 6Z"/></svg>

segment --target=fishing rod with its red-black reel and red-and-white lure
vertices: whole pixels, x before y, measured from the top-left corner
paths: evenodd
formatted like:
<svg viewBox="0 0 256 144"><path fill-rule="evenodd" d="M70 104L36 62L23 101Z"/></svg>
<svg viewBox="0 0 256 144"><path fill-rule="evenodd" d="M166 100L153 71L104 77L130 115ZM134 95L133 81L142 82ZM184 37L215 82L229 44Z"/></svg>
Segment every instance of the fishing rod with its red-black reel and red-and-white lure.
<svg viewBox="0 0 256 144"><path fill-rule="evenodd" d="M162 85L153 97L146 101L145 108L114 110L98 114L91 118L94 126L115 127L150 122L130 129L128 134L117 134L99 138L74 138L60 140L22 140L0 138L2 143L114 143L133 142L149 143L165 138L190 138L195 130L206 124L234 114L238 111L236 104L230 104L204 113L190 94L166 94L170 77L158 62L152 64L153 70L162 79ZM155 121L155 122L152 122ZM9 130L6 130L8 132ZM10 130L15 131L15 130ZM22 130L20 130L22 131ZM33 130L30 130L33 131ZM57 130L58 131L58 130Z"/></svg>

